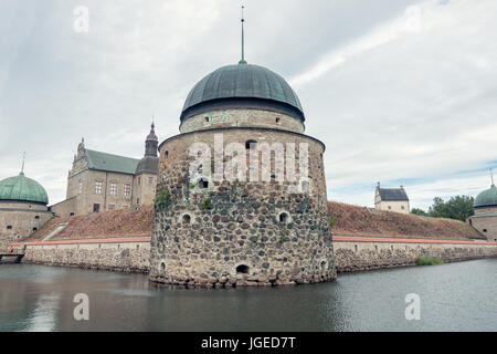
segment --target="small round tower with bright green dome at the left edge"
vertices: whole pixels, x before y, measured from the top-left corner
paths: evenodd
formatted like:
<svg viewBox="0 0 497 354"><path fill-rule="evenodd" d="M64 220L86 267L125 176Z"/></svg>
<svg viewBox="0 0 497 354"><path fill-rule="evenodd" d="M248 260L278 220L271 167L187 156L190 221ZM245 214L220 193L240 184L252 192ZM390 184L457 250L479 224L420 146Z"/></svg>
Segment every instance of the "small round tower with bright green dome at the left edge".
<svg viewBox="0 0 497 354"><path fill-rule="evenodd" d="M0 248L39 230L53 214L45 189L20 173L0 181Z"/></svg>

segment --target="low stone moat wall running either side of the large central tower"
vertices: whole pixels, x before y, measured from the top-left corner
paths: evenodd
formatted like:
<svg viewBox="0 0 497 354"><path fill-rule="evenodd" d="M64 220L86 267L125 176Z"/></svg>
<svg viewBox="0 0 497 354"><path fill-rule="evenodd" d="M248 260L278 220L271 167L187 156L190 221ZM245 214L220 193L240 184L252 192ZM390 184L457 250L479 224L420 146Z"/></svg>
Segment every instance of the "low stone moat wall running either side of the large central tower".
<svg viewBox="0 0 497 354"><path fill-rule="evenodd" d="M40 243L27 246L22 262L148 273L149 247L149 242L45 246ZM18 248L22 249L21 246ZM334 250L335 264L339 273L411 267L415 266L419 257L438 257L446 262L497 257L495 242L489 244L363 242L360 237L355 241L335 240ZM246 281L253 284L255 280ZM271 282L267 283L269 284Z"/></svg>

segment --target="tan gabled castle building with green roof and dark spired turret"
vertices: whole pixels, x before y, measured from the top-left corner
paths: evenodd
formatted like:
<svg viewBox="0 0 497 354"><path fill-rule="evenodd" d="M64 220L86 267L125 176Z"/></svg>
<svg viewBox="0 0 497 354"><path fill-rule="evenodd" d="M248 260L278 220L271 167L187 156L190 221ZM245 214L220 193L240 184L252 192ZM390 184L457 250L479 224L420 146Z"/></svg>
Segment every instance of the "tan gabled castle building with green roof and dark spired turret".
<svg viewBox="0 0 497 354"><path fill-rule="evenodd" d="M158 138L152 124L141 159L77 147L67 176L66 200L51 207L56 216L88 215L154 204Z"/></svg>

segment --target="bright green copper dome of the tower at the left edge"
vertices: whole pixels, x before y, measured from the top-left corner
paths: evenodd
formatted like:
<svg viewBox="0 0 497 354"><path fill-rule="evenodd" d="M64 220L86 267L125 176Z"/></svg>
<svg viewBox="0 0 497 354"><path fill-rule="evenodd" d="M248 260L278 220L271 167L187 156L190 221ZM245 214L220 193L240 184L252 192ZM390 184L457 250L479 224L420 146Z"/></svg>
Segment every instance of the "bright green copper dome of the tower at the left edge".
<svg viewBox="0 0 497 354"><path fill-rule="evenodd" d="M0 181L0 200L49 204L45 189L38 181L27 178L23 173Z"/></svg>

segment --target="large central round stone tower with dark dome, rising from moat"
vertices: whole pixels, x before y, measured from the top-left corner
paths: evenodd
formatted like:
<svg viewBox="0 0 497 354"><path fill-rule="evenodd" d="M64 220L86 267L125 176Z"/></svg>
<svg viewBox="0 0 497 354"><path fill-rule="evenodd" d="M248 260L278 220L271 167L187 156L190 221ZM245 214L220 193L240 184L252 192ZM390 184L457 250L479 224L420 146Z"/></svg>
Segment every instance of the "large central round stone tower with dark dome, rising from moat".
<svg viewBox="0 0 497 354"><path fill-rule="evenodd" d="M278 74L241 61L190 92L159 146L150 280L223 288L336 278L325 145Z"/></svg>

